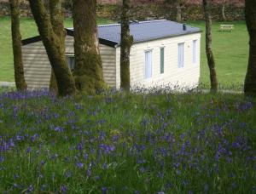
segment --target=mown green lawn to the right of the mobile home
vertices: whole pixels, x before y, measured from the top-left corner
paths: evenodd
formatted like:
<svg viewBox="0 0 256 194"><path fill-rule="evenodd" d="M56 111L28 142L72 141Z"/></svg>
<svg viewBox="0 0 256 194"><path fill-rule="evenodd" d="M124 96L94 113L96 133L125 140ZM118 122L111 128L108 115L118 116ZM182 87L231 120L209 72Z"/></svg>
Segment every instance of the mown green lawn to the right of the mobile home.
<svg viewBox="0 0 256 194"><path fill-rule="evenodd" d="M220 24L232 24L235 30L218 31ZM210 87L209 70L205 52L205 26L202 21L189 22L189 25L200 27L201 38L201 83L204 88ZM248 33L244 21L214 22L212 25L212 50L220 87L241 90L247 71L249 53Z"/></svg>

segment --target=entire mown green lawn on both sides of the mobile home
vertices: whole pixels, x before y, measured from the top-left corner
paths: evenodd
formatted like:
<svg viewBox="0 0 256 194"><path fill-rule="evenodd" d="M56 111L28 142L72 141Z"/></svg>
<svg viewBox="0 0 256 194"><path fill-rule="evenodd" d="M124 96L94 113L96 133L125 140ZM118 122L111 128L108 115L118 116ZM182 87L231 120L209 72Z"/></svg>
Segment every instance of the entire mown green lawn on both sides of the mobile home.
<svg viewBox="0 0 256 194"><path fill-rule="evenodd" d="M109 23L109 20L99 19L99 24ZM188 22L204 30L203 21ZM247 71L248 35L244 21L224 22L235 25L235 30L218 31L221 22L214 22L212 26L213 52L216 60L218 81L225 89L242 89ZM72 20L65 21L66 27L73 26ZM34 21L21 19L22 37L38 35ZM9 17L0 17L0 81L14 81L13 59L10 37ZM201 38L201 83L203 88L209 88L209 71L205 54L205 33Z"/></svg>

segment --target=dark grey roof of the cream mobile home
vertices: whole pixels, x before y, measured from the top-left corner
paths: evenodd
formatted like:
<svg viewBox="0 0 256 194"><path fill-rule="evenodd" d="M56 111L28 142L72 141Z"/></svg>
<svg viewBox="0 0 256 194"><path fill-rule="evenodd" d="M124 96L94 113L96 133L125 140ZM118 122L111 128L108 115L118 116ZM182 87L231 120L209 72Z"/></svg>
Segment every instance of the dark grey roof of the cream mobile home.
<svg viewBox="0 0 256 194"><path fill-rule="evenodd" d="M150 40L177 37L191 33L201 32L201 29L187 26L183 31L183 24L170 20L149 20L132 22L130 24L131 35L134 43L142 43ZM120 24L98 26L99 42L108 46L117 47L120 44ZM67 34L73 36L73 28L67 28ZM31 38L24 40L23 45L31 43Z"/></svg>

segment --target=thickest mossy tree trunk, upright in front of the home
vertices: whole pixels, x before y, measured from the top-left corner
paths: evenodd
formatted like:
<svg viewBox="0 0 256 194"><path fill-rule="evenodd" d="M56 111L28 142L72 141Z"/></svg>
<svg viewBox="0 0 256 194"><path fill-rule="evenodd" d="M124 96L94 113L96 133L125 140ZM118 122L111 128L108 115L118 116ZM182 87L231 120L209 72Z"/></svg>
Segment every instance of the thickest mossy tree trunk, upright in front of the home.
<svg viewBox="0 0 256 194"><path fill-rule="evenodd" d="M73 0L74 77L79 91L105 87L96 26L96 0Z"/></svg>

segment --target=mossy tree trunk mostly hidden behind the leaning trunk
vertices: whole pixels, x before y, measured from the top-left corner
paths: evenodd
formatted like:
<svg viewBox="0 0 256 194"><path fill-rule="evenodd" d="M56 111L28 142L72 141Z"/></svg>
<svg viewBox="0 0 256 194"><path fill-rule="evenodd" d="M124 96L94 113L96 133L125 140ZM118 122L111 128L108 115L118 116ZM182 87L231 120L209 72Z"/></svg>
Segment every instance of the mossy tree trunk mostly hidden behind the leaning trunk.
<svg viewBox="0 0 256 194"><path fill-rule="evenodd" d="M60 38L62 49L61 52L65 54L66 31L64 30L63 26L64 14L62 13L62 0L50 0L48 3L48 8L51 25L53 27L55 34ZM55 94L58 94L58 85L53 70L51 71L49 89L51 91L54 91Z"/></svg>

